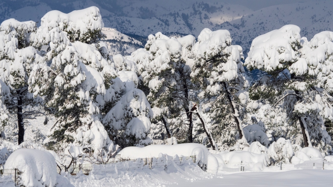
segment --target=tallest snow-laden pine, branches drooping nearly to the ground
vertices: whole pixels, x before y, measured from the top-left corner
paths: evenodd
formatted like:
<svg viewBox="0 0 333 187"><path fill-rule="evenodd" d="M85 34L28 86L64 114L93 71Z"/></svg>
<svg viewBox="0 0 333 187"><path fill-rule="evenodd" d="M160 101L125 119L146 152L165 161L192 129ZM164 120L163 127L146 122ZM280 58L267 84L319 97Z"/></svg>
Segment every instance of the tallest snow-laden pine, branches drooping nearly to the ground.
<svg viewBox="0 0 333 187"><path fill-rule="evenodd" d="M52 59L52 63L50 67L34 67L29 90L34 96L42 96L46 109L57 117L47 139L50 148L57 151L64 151L70 143L96 154L114 148L100 122L99 106L105 104L105 85L111 85L104 84L104 80L112 80L115 71L100 54L98 44L71 43L62 31L75 31L80 40L91 43L103 26L97 7L69 14L51 11L42 18L41 27L32 37L37 47L49 45L44 58Z"/></svg>

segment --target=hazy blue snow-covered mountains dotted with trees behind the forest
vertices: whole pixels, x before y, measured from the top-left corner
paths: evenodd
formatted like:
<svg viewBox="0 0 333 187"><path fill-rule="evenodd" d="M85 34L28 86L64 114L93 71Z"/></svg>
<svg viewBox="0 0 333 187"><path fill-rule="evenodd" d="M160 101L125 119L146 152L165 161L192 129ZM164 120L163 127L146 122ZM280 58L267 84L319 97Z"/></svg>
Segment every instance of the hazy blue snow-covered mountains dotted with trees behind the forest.
<svg viewBox="0 0 333 187"><path fill-rule="evenodd" d="M191 34L197 37L203 28L227 29L234 39L234 44L241 45L245 52L249 50L250 43L256 36L286 24L298 25L302 30L302 36L308 38L312 38L320 31L333 30L332 21L330 22L333 9L331 0L281 4L257 11L243 5L217 0L205 2L196 0L0 0L0 5L1 20L15 18L19 21L36 22L50 10L68 13L97 6L100 8L105 27L144 38L157 32L169 36ZM120 45L117 50L128 51L120 49ZM137 45L142 44L137 43Z"/></svg>

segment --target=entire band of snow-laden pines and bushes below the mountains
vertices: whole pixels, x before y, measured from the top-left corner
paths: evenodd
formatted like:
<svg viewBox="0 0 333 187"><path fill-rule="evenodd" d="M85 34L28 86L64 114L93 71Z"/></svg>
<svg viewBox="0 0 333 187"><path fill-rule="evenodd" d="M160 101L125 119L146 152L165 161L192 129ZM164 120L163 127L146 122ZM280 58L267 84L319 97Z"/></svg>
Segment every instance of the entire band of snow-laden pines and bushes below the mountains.
<svg viewBox="0 0 333 187"><path fill-rule="evenodd" d="M285 25L247 51L223 28L157 32L126 56L110 53L104 31L95 6L1 23L0 167L38 170L21 178L25 186L58 185L53 165L116 155L165 167L196 155L213 174L242 159L333 161L333 32L306 38Z"/></svg>

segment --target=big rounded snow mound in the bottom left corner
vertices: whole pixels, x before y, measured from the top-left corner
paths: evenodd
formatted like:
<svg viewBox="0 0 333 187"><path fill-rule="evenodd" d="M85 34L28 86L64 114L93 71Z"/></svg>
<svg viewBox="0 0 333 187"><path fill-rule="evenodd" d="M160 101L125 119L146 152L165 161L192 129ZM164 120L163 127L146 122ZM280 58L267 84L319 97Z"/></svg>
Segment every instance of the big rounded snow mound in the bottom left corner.
<svg viewBox="0 0 333 187"><path fill-rule="evenodd" d="M4 168L22 172L20 183L26 187L53 187L57 180L56 166L51 153L22 148L8 157Z"/></svg>

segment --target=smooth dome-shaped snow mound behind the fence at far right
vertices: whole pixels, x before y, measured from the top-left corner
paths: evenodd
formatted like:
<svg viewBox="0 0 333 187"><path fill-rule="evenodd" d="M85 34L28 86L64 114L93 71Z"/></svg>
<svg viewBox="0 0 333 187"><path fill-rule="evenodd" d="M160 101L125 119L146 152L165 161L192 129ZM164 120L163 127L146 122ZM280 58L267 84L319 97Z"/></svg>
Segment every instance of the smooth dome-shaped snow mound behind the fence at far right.
<svg viewBox="0 0 333 187"><path fill-rule="evenodd" d="M324 158L318 149L313 147L304 147L295 153L295 156L291 158L292 163L304 162L304 161L323 161Z"/></svg>

